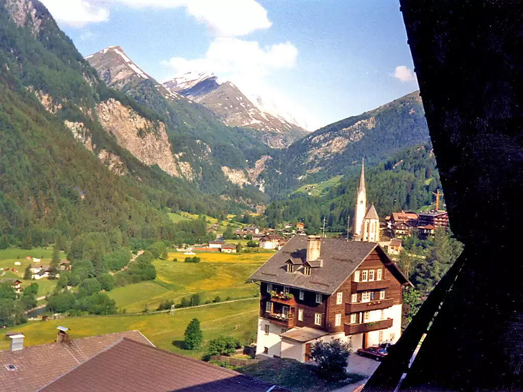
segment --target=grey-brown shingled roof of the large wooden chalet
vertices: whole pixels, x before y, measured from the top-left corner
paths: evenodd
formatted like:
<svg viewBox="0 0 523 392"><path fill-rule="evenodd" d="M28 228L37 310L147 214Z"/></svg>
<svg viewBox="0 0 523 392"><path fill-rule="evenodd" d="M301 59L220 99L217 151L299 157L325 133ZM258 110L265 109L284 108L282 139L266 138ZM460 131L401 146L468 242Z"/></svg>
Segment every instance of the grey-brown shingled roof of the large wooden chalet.
<svg viewBox="0 0 523 392"><path fill-rule="evenodd" d="M323 259L323 267L314 268L311 275L304 275L302 267L295 268L295 272L286 270L289 258L301 258L302 262L306 258L307 237L294 236L251 279L330 295L377 246L375 243L322 238L320 259Z"/></svg>

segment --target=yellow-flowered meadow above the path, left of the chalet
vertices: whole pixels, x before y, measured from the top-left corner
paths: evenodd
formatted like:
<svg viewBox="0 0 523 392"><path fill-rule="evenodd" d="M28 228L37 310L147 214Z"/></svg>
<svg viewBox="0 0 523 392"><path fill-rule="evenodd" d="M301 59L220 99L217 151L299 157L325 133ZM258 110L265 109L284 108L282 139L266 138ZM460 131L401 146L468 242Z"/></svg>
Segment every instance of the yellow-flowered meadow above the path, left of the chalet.
<svg viewBox="0 0 523 392"><path fill-rule="evenodd" d="M186 255L169 252L167 260L155 260L156 279L118 287L109 292L116 306L128 313L155 310L162 302L179 303L182 297L199 293L201 302L220 296L246 298L256 296L259 286L247 283L272 253L198 253L201 262L186 263ZM177 258L178 261L173 261Z"/></svg>

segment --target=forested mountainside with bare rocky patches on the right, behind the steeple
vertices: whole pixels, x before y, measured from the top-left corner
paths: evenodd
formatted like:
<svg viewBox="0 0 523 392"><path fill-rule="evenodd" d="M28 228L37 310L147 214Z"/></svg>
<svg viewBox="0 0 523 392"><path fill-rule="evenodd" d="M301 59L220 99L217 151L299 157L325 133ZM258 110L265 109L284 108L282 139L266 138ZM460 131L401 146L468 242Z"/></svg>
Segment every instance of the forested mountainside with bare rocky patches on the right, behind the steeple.
<svg viewBox="0 0 523 392"><path fill-rule="evenodd" d="M428 140L423 105L419 92L414 91L272 152L258 171L256 184L272 198L285 197L304 183L355 174L361 158L373 166L388 155Z"/></svg>

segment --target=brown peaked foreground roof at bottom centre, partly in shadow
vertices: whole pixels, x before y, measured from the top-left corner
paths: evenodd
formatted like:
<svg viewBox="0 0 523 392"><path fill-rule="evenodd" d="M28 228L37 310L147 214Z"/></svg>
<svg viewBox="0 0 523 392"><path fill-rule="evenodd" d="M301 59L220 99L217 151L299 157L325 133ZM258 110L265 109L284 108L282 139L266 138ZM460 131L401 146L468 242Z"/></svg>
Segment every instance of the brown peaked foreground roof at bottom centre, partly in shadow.
<svg viewBox="0 0 523 392"><path fill-rule="evenodd" d="M42 392L266 392L267 384L232 370L122 339ZM272 391L285 392L283 388Z"/></svg>

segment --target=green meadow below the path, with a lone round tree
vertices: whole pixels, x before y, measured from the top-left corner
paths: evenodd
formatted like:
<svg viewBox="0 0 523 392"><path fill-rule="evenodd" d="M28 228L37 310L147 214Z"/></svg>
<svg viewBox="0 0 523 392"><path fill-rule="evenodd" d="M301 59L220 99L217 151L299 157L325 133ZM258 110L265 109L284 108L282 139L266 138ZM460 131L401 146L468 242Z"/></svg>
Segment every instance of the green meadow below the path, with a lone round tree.
<svg viewBox="0 0 523 392"><path fill-rule="evenodd" d="M153 344L165 350L200 359L205 345L199 350L181 348L185 328L192 318L200 320L203 338L207 342L219 335L232 336L241 340L243 333L256 333L258 301L253 298L226 304L212 304L198 308L184 308L174 312L139 316L85 316L67 317L61 320L32 321L25 325L7 329L19 331L25 335L26 345L50 343L56 338L56 327L70 328L72 339L104 333L138 329ZM175 344L173 344L175 341ZM9 342L0 339L0 350L9 347Z"/></svg>

